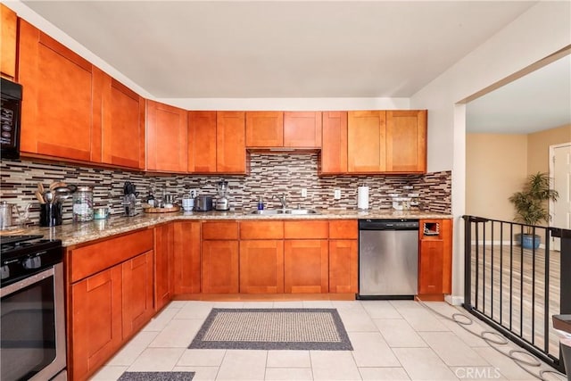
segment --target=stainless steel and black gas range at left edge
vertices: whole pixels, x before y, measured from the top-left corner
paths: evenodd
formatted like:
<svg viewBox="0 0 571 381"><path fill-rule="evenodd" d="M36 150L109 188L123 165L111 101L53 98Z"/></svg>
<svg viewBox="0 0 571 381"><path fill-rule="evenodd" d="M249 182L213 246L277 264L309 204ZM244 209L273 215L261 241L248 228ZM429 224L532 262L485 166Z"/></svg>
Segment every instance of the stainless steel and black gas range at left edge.
<svg viewBox="0 0 571 381"><path fill-rule="evenodd" d="M66 380L62 241L0 237L0 379Z"/></svg>

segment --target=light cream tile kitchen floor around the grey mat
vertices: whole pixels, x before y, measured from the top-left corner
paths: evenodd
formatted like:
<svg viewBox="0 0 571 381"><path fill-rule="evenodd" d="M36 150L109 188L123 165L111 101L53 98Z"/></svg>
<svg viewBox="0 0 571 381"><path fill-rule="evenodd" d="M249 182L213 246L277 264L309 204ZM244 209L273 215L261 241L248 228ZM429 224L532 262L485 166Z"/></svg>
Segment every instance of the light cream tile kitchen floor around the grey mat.
<svg viewBox="0 0 571 381"><path fill-rule="evenodd" d="M451 316L462 311L427 302ZM354 351L187 349L211 308L336 308ZM483 323L468 327L492 330ZM518 348L499 347L501 352ZM527 367L539 375L540 369ZM124 371L194 371L200 380L537 379L476 335L412 301L171 302L92 381ZM550 379L565 379L550 377Z"/></svg>

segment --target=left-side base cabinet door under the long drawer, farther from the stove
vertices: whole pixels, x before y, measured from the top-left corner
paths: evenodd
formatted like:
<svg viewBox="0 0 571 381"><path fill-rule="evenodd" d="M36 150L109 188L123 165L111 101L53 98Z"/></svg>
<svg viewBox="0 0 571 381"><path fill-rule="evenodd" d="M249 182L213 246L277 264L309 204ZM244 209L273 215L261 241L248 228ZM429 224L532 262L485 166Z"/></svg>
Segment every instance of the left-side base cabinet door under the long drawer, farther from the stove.
<svg viewBox="0 0 571 381"><path fill-rule="evenodd" d="M123 338L135 335L154 314L153 252L123 262Z"/></svg>

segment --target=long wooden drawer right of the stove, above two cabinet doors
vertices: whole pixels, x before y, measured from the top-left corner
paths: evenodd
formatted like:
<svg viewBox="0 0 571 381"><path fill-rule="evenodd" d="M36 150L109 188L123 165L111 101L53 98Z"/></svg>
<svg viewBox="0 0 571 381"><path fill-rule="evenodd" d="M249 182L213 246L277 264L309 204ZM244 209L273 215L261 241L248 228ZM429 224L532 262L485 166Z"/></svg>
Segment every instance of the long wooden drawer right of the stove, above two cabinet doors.
<svg viewBox="0 0 571 381"><path fill-rule="evenodd" d="M153 229L140 230L96 244L68 249L70 282L74 283L103 269L153 250Z"/></svg>

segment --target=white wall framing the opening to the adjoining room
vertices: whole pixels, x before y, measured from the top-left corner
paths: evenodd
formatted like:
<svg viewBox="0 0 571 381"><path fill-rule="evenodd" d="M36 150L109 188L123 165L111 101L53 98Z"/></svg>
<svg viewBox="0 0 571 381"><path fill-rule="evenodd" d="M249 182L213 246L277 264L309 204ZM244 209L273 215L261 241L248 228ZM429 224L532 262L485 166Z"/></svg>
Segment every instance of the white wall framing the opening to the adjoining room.
<svg viewBox="0 0 571 381"><path fill-rule="evenodd" d="M540 2L410 98L428 109L428 171L452 170L453 302L464 292L466 118L459 101L571 45L571 3Z"/></svg>

